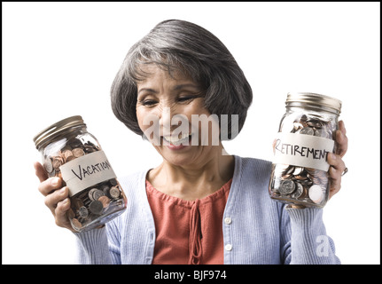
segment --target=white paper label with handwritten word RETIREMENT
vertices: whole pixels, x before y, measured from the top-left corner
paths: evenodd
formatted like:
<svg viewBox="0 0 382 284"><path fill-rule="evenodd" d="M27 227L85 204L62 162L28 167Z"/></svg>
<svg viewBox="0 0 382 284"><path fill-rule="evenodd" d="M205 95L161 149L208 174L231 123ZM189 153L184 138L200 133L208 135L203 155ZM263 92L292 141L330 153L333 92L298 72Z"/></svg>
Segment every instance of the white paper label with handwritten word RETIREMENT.
<svg viewBox="0 0 382 284"><path fill-rule="evenodd" d="M274 163L327 171L327 156L333 152L333 148L334 140L328 138L278 132Z"/></svg>

